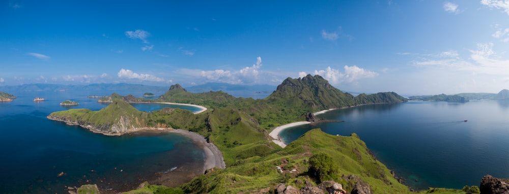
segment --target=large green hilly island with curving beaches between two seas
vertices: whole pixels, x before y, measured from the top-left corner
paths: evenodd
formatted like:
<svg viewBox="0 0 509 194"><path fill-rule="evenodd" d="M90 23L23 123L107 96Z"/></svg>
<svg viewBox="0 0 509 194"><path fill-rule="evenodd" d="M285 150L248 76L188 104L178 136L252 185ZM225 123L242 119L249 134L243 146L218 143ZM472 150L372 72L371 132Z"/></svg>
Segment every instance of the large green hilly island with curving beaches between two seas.
<svg viewBox="0 0 509 194"><path fill-rule="evenodd" d="M329 110L408 101L394 92L354 97L332 87L319 75L307 75L285 79L265 99L235 98L221 91L190 93L178 84L154 100L118 94L110 98L111 103L98 111L69 109L51 113L47 118L106 135L143 130L197 134L199 139L206 140L205 144L213 144L212 149L217 148L212 155L216 159L222 156L225 164L204 165L204 175L176 187L149 181L130 193L324 193L335 183L341 183L348 193L413 191L355 133L330 135L317 128L288 145L273 142L282 128L290 126L286 124L322 122L315 115ZM127 100L200 104L210 110L193 114L184 109L163 108L147 113L132 107ZM282 125L286 126L278 128ZM107 186L96 184L99 190ZM477 186L464 189L478 190ZM422 192L465 191L428 188Z"/></svg>

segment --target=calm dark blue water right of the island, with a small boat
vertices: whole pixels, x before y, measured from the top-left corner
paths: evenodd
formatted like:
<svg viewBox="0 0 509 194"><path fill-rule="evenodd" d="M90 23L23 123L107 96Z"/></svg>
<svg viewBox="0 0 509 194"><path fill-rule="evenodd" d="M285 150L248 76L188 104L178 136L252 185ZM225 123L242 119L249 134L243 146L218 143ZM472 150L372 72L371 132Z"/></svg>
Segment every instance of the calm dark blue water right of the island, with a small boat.
<svg viewBox="0 0 509 194"><path fill-rule="evenodd" d="M509 178L508 101L411 101L338 109L319 117L345 122L298 126L281 136L289 143L318 127L329 134L357 133L416 189L478 186L487 174Z"/></svg>

